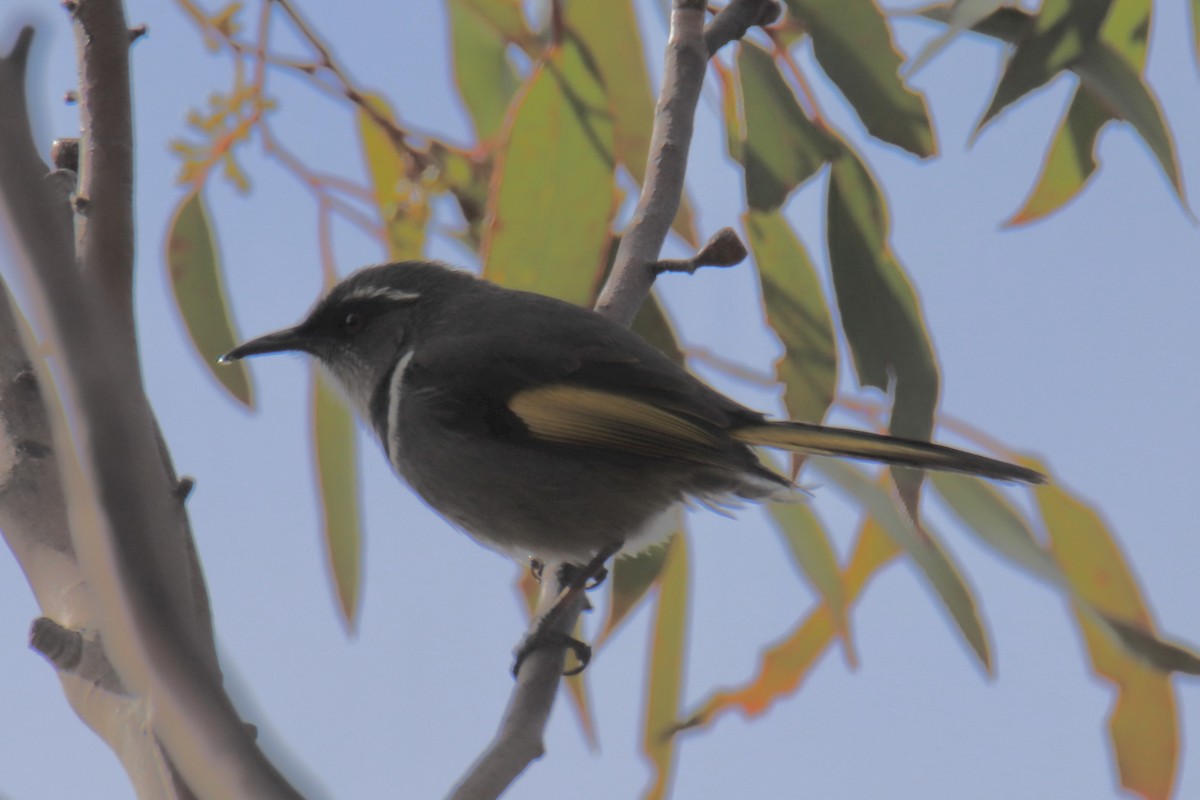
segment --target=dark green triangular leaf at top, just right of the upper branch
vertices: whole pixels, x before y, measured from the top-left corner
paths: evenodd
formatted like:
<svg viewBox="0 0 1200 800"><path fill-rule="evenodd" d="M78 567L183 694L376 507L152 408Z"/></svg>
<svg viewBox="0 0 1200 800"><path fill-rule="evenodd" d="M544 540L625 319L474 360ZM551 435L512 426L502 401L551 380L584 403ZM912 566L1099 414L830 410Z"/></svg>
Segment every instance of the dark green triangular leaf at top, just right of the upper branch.
<svg viewBox="0 0 1200 800"><path fill-rule="evenodd" d="M746 130L746 199L751 209L778 209L838 152L836 145L800 109L767 50L742 42L738 76Z"/></svg>

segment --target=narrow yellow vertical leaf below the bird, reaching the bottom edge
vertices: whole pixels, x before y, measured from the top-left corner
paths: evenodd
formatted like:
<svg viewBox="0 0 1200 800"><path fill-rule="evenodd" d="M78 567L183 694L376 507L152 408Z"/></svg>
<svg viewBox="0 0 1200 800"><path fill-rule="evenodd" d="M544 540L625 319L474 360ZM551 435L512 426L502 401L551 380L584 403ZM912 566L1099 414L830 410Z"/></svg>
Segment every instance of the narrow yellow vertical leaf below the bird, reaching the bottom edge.
<svg viewBox="0 0 1200 800"><path fill-rule="evenodd" d="M642 752L654 768L654 782L643 795L661 800L671 789L676 742L672 732L683 697L683 655L688 631L688 537L674 536L667 546L659 581L659 607L650 643L649 686Z"/></svg>

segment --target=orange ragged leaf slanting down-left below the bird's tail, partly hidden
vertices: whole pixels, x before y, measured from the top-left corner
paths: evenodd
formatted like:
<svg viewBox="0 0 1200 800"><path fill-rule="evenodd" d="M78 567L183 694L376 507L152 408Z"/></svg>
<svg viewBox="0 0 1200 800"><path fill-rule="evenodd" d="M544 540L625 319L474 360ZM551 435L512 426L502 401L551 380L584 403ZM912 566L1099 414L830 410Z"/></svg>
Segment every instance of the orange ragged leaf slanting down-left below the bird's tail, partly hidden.
<svg viewBox="0 0 1200 800"><path fill-rule="evenodd" d="M899 553L900 548L883 533L878 521L868 517L845 572L847 606L858 601L868 582ZM738 688L714 692L688 715L680 727L706 727L734 709L750 717L764 714L774 703L799 688L836 634L829 607L818 606L786 638L763 654L762 667L754 678Z"/></svg>

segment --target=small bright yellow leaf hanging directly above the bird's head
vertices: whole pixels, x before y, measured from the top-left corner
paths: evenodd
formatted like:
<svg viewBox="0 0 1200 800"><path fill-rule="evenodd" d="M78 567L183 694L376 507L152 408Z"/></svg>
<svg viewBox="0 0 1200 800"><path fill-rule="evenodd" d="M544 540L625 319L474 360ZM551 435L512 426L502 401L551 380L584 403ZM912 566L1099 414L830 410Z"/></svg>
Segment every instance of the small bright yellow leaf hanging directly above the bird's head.
<svg viewBox="0 0 1200 800"><path fill-rule="evenodd" d="M366 95L365 100L383 118L395 119L384 97ZM388 236L388 258L397 261L420 258L425 249L425 229L432 215L425 187L410 178L410 156L397 151L386 131L361 108L355 119L379 222Z"/></svg>

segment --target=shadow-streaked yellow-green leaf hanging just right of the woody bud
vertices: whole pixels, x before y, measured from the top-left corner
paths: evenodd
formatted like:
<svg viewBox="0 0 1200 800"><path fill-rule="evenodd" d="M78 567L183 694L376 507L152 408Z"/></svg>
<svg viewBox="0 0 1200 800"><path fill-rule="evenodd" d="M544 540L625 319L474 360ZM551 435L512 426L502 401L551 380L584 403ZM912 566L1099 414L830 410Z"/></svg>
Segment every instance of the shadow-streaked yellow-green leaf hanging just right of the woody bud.
<svg viewBox="0 0 1200 800"><path fill-rule="evenodd" d="M767 324L784 343L775 374L784 383L787 416L820 422L838 386L838 348L821 282L780 211L750 211L743 224L758 267Z"/></svg>

